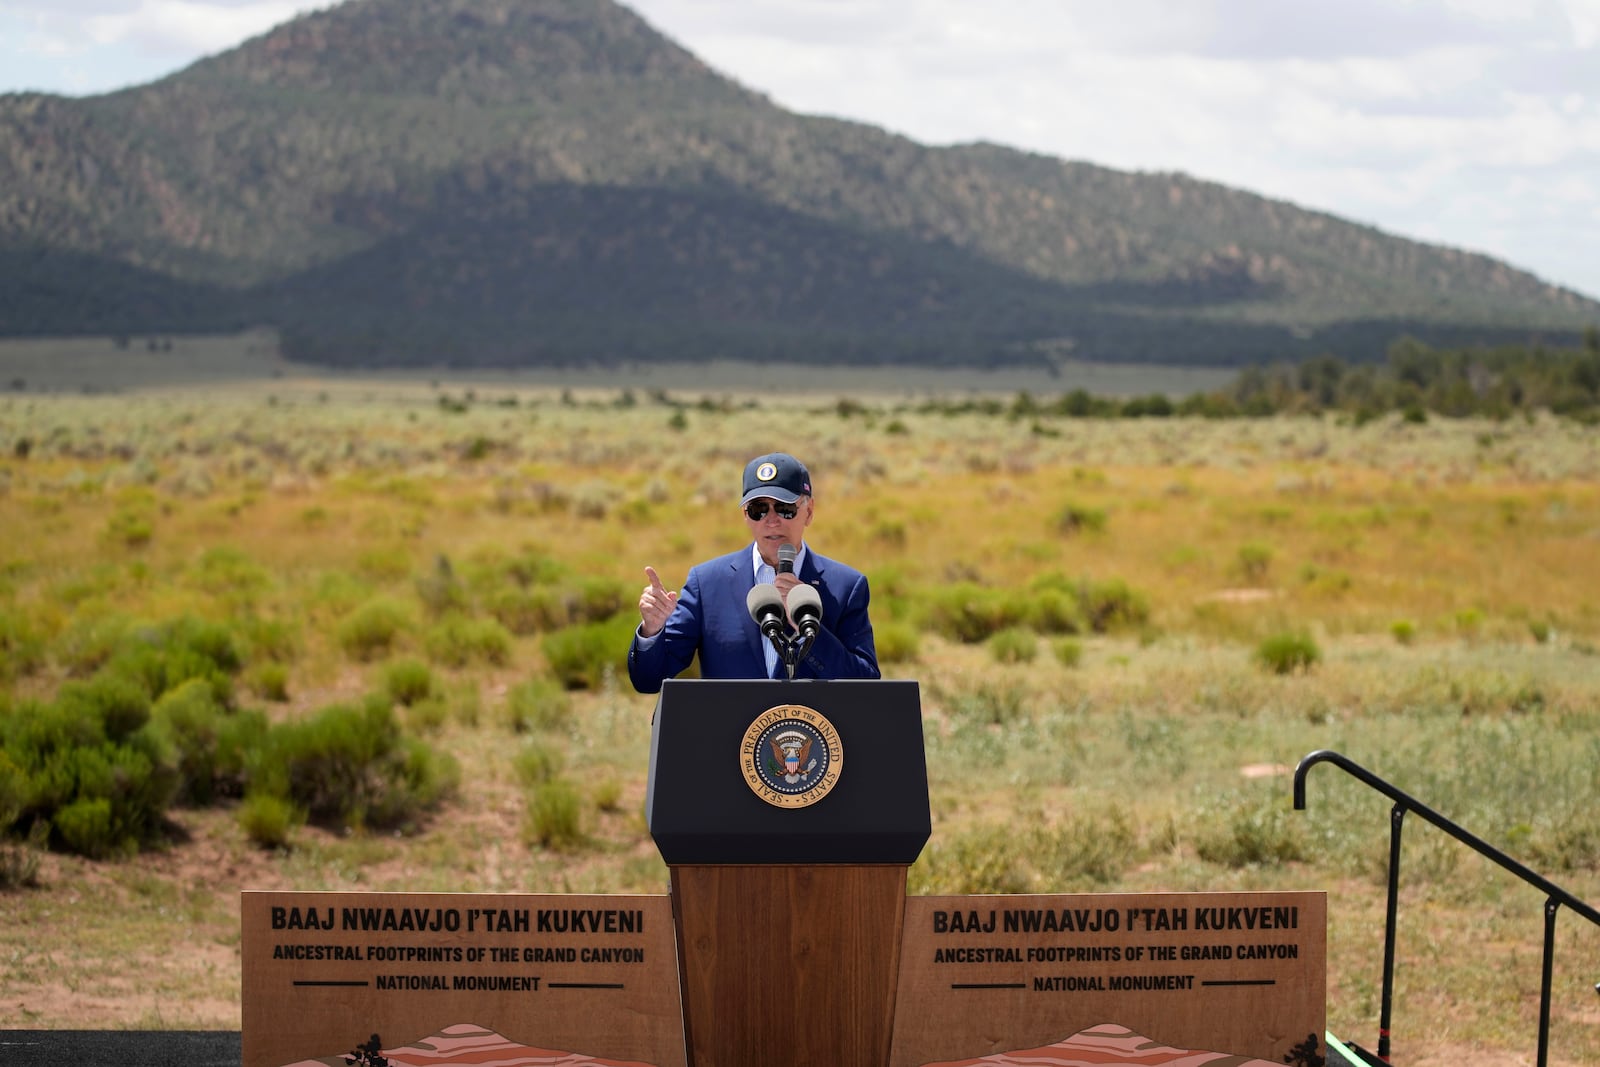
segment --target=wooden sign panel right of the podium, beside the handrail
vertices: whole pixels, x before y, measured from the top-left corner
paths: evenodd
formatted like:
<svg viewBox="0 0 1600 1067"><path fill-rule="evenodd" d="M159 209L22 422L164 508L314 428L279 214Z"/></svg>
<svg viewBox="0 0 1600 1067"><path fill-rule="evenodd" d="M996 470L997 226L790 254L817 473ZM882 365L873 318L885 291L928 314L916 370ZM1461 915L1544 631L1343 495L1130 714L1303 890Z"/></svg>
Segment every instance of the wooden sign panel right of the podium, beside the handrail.
<svg viewBox="0 0 1600 1067"><path fill-rule="evenodd" d="M906 901L891 1067L1317 1064L1325 893Z"/></svg>

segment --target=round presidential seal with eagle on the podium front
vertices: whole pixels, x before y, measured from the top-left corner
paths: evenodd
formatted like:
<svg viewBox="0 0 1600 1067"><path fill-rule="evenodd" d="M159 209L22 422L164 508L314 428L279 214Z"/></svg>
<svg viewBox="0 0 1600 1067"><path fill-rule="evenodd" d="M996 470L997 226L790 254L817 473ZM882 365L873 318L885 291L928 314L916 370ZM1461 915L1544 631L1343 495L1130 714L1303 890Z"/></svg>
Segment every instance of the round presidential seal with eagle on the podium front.
<svg viewBox="0 0 1600 1067"><path fill-rule="evenodd" d="M845 747L821 712L779 704L744 731L739 766L750 792L774 808L810 808L838 782Z"/></svg>

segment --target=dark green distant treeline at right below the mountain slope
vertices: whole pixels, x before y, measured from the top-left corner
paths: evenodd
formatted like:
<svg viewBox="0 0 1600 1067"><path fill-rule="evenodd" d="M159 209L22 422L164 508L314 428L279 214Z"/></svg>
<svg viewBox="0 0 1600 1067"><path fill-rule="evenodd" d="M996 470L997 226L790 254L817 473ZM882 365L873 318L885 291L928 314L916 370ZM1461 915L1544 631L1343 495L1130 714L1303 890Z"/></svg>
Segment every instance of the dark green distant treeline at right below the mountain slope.
<svg viewBox="0 0 1600 1067"><path fill-rule="evenodd" d="M966 402L968 408L1008 410L1014 418L1250 418L1333 411L1357 421L1402 413L1421 421L1550 411L1600 422L1600 330L1590 326L1574 349L1541 344L1435 349L1414 338L1389 346L1384 363L1347 363L1318 355L1299 363L1248 366L1226 389L1173 400L1094 397L1075 389L1056 400L1021 394L1006 408L1000 400Z"/></svg>

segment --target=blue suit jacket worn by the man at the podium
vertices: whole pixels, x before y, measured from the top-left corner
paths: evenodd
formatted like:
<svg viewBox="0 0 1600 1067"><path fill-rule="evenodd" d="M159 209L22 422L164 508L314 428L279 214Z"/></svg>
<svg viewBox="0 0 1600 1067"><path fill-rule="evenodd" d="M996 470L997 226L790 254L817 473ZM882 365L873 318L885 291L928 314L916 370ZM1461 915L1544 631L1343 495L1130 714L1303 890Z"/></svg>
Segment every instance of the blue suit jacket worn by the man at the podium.
<svg viewBox="0 0 1600 1067"><path fill-rule="evenodd" d="M806 550L800 581L822 598L822 632L795 678L877 678L878 654L867 617L867 577L853 566ZM627 649L627 677L640 693L659 693L661 681L680 673L699 653L702 678L765 678L762 630L744 603L755 585L750 545L690 569L678 605L653 640Z"/></svg>

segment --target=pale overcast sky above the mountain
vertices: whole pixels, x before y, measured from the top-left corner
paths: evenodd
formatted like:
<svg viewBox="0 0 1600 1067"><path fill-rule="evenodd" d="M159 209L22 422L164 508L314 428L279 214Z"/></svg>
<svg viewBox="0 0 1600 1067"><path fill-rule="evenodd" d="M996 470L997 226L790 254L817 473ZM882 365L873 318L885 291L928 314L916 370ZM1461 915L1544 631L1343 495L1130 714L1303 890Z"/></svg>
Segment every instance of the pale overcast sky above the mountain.
<svg viewBox="0 0 1600 1067"><path fill-rule="evenodd" d="M0 91L138 85L312 6L0 0ZM629 6L792 110L1184 171L1600 298L1600 0Z"/></svg>

